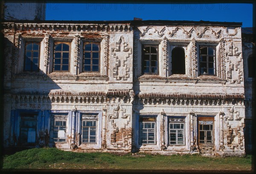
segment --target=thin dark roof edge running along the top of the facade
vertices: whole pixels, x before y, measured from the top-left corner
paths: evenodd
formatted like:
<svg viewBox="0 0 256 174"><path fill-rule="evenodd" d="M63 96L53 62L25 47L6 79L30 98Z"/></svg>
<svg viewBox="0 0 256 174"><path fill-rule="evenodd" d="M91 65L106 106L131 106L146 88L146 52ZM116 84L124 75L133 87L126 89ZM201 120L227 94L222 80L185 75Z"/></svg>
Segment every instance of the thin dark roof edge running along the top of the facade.
<svg viewBox="0 0 256 174"><path fill-rule="evenodd" d="M13 23L62 23L62 24L128 24L131 25L215 25L241 27L242 22L211 22L190 20L2 20Z"/></svg>

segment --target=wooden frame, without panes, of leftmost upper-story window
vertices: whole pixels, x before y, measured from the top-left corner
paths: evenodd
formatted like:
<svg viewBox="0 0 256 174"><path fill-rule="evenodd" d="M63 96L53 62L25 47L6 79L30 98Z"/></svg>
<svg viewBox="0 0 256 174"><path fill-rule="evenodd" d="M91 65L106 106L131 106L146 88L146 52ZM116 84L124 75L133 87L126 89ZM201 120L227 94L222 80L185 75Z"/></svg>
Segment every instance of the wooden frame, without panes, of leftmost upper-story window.
<svg viewBox="0 0 256 174"><path fill-rule="evenodd" d="M31 68L31 70L25 70L25 66L26 66L26 51L27 51L27 45L29 45L29 44L37 44L38 45L38 69L36 70L36 71L33 71L32 70L32 68ZM35 41L25 41L25 45L24 45L25 47L24 47L24 56L23 56L23 71L24 72L39 72L40 71L40 56L41 56L41 54L40 54L40 51L41 51L41 49L40 49L40 47L41 47L41 42L40 41L38 41L38 40L35 40ZM31 50L31 52L33 53L34 52L34 50ZM32 57L32 53L31 53L31 64L33 65L33 58L34 57ZM30 66L32 66L32 65L30 65Z"/></svg>

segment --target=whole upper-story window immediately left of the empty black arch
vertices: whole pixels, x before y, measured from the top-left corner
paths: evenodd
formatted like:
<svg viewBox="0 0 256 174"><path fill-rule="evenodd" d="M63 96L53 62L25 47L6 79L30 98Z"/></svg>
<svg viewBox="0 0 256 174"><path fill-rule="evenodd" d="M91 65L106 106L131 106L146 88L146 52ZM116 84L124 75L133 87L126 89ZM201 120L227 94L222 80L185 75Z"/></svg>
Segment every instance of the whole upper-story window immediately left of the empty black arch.
<svg viewBox="0 0 256 174"><path fill-rule="evenodd" d="M143 45L142 74L158 74L158 46Z"/></svg>

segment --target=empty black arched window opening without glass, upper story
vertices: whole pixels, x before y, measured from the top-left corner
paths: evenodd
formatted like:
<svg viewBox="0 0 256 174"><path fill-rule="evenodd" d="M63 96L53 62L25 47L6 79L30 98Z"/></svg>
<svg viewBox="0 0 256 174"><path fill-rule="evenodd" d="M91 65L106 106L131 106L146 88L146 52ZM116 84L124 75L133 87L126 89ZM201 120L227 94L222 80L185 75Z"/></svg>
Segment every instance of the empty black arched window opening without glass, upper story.
<svg viewBox="0 0 256 174"><path fill-rule="evenodd" d="M185 52L183 48L172 50L172 74L185 74Z"/></svg>

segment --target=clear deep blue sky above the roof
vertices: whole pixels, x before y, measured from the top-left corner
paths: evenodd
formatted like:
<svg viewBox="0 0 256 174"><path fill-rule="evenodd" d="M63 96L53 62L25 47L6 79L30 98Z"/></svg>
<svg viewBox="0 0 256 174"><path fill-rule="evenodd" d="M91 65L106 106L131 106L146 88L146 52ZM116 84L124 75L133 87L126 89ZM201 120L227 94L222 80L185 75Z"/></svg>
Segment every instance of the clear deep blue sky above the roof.
<svg viewBox="0 0 256 174"><path fill-rule="evenodd" d="M220 4L127 4L47 3L46 20L206 20L243 22L253 26L253 5Z"/></svg>

